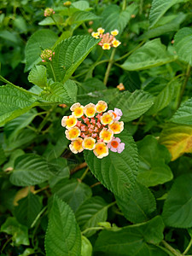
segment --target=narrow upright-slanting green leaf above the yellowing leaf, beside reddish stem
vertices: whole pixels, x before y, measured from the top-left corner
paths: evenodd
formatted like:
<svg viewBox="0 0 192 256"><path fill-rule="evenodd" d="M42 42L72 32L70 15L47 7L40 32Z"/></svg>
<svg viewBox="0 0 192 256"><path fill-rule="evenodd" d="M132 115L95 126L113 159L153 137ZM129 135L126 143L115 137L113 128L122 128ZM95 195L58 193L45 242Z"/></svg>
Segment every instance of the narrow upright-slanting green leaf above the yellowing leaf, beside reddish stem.
<svg viewBox="0 0 192 256"><path fill-rule="evenodd" d="M171 80L162 88L158 96L154 99L154 105L148 110L148 114L158 113L161 109L172 102L177 96L177 91L180 89L181 84L177 80Z"/></svg>

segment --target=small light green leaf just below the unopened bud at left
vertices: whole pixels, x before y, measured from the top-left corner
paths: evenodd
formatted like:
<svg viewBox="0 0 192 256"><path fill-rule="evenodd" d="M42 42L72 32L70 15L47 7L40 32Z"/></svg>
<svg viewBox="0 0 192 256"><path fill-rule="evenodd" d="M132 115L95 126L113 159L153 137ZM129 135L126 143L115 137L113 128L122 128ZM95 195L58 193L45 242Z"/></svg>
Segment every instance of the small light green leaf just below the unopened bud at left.
<svg viewBox="0 0 192 256"><path fill-rule="evenodd" d="M47 74L46 67L44 66L35 66L29 73L28 80L32 84L36 84L39 87L43 88L47 85Z"/></svg>

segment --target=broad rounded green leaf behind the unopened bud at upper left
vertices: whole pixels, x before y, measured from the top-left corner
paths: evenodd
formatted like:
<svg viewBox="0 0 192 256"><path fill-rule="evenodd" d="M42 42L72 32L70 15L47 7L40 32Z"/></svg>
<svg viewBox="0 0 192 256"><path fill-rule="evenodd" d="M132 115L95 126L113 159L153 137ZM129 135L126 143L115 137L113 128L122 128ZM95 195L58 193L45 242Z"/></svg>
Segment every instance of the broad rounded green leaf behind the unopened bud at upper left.
<svg viewBox="0 0 192 256"><path fill-rule="evenodd" d="M41 29L32 34L26 43L26 67L28 71L41 61L41 51L53 47L57 40L57 35L49 29Z"/></svg>

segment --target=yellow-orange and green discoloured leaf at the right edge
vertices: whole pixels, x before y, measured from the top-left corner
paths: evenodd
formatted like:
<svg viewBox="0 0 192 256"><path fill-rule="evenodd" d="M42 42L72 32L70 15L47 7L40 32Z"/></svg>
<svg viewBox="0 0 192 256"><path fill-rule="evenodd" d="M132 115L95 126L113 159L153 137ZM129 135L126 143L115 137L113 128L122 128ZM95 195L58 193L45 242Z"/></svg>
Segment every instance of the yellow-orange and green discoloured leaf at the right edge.
<svg viewBox="0 0 192 256"><path fill-rule="evenodd" d="M169 149L172 160L184 153L192 153L192 126L166 125L160 134L160 143Z"/></svg>

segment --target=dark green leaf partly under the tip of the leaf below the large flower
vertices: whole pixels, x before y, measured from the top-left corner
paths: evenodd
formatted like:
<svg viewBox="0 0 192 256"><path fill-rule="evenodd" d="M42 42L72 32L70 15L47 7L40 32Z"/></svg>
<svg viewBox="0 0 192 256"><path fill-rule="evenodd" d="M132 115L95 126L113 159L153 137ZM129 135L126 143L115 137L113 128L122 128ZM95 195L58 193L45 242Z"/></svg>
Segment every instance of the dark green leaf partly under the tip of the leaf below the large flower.
<svg viewBox="0 0 192 256"><path fill-rule="evenodd" d="M118 196L116 199L125 218L134 224L147 221L151 217L152 212L156 209L154 195L141 183L135 184L131 196L127 197L125 200Z"/></svg>

